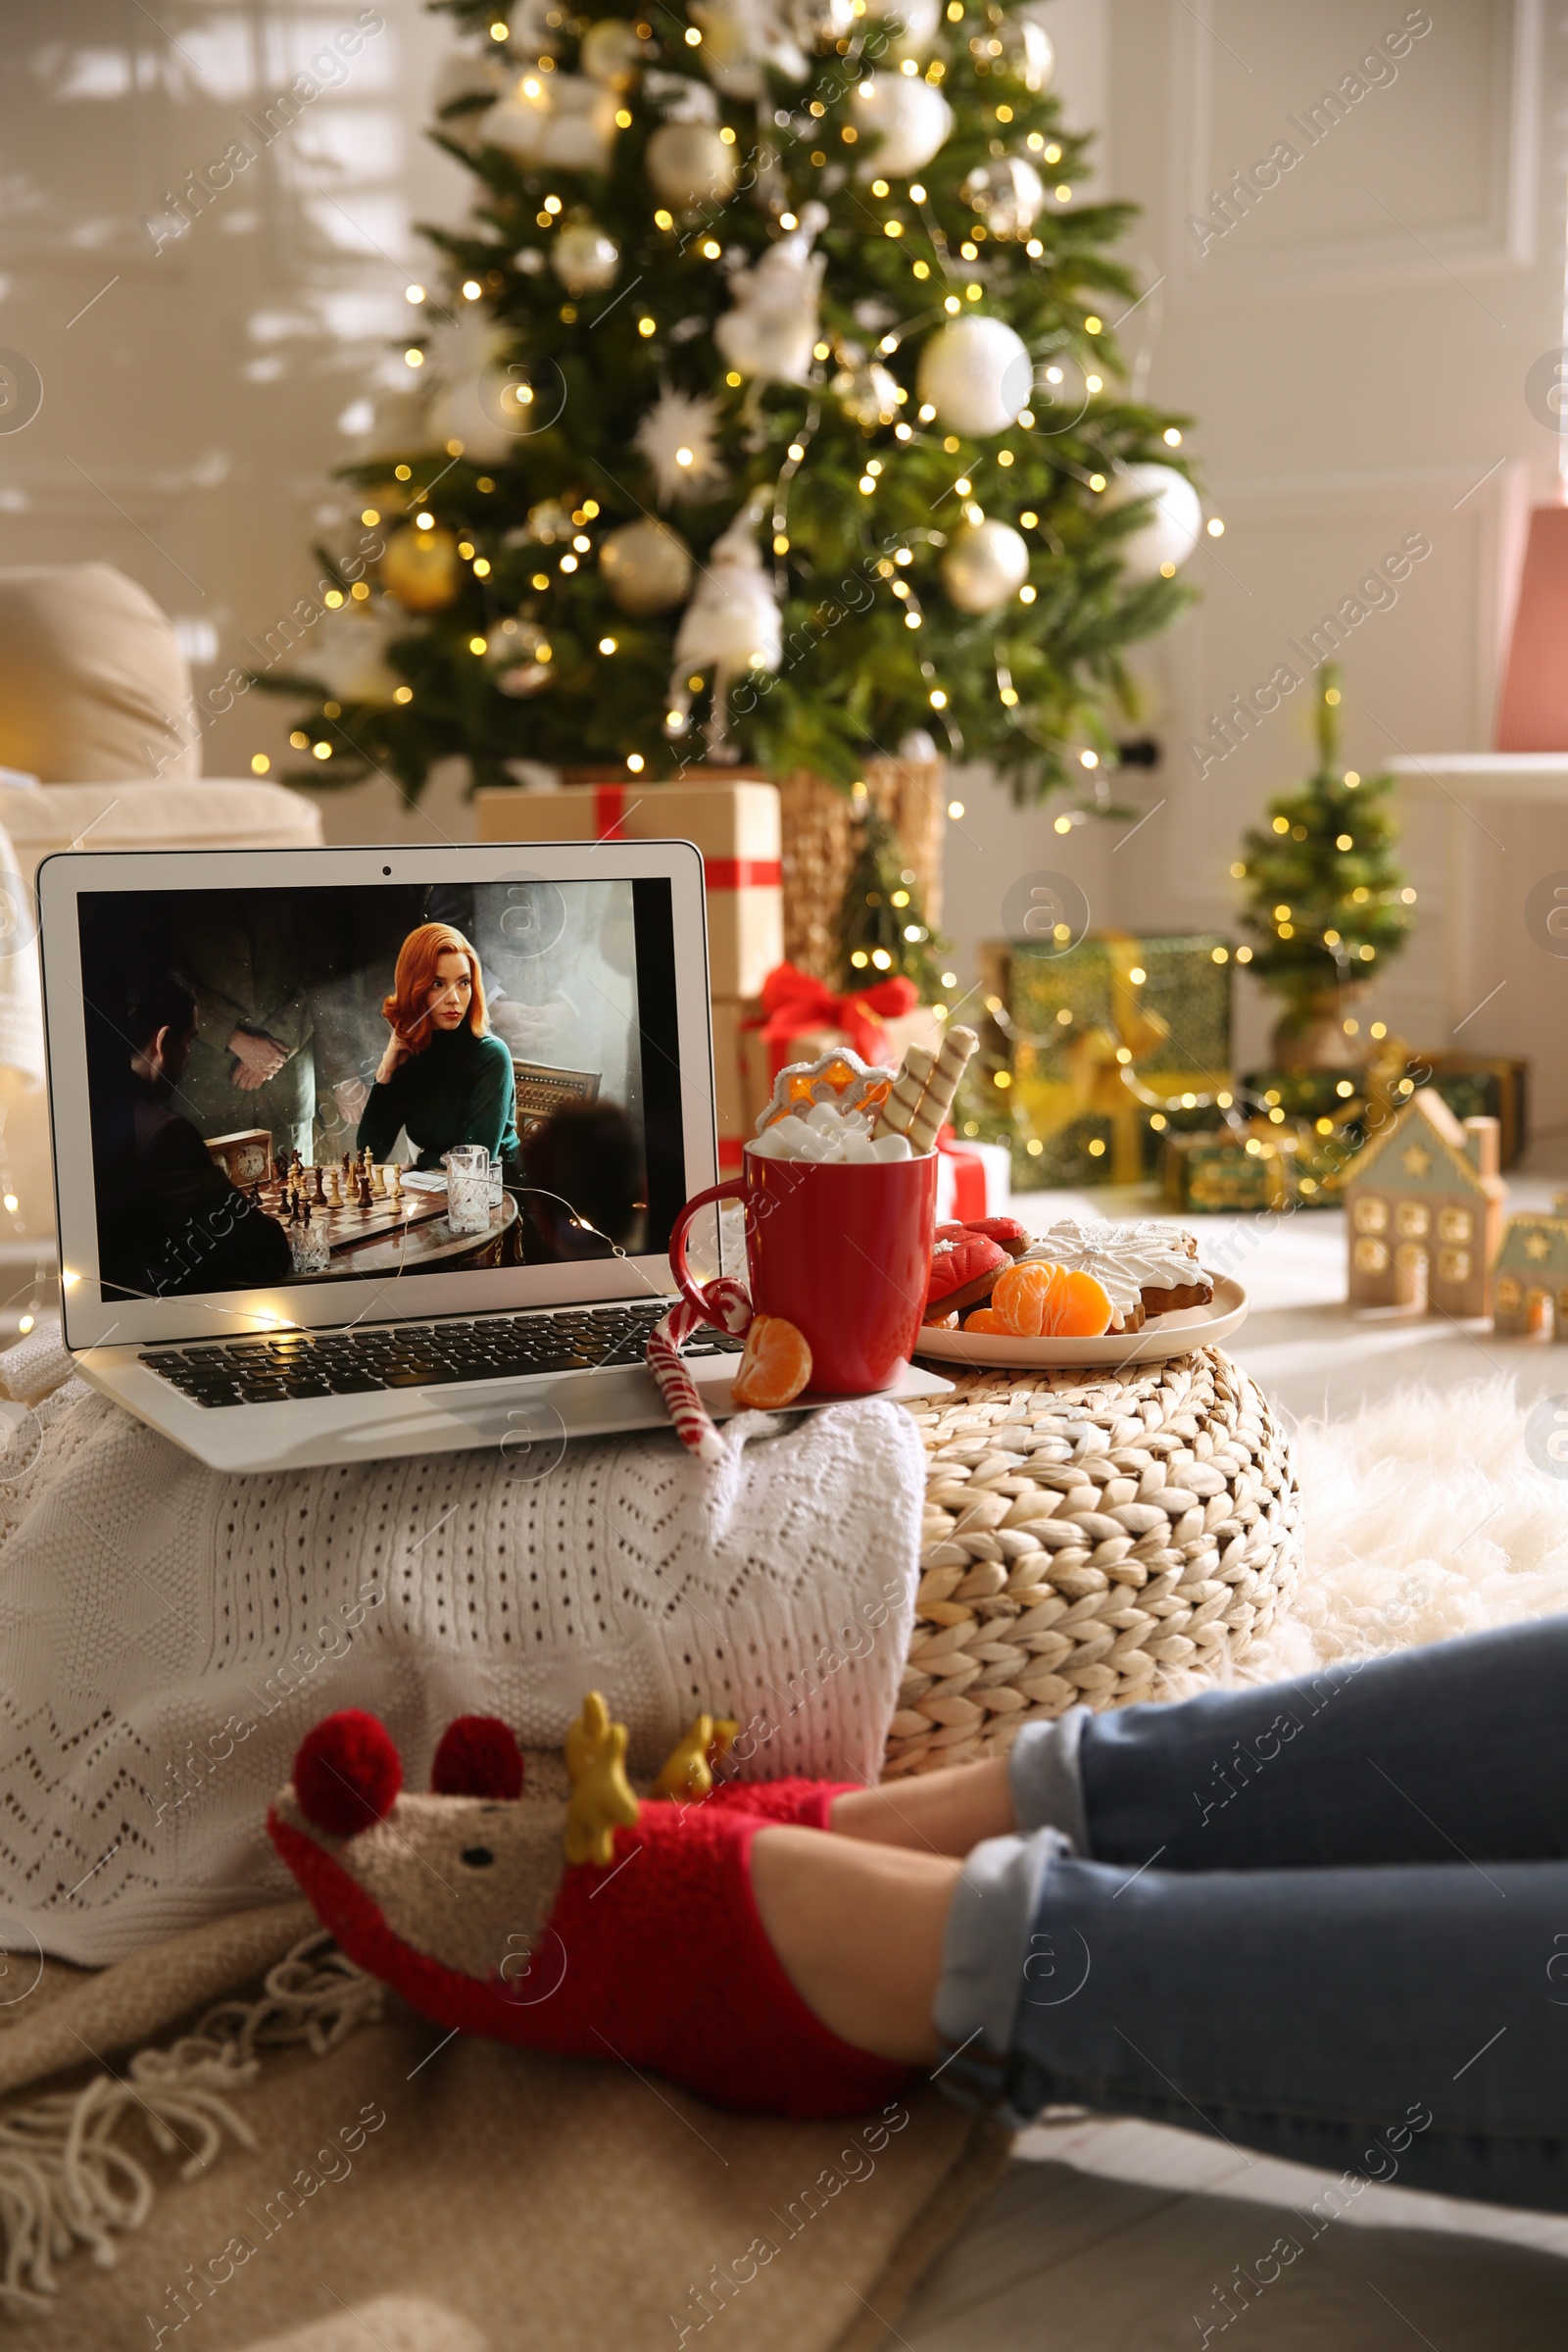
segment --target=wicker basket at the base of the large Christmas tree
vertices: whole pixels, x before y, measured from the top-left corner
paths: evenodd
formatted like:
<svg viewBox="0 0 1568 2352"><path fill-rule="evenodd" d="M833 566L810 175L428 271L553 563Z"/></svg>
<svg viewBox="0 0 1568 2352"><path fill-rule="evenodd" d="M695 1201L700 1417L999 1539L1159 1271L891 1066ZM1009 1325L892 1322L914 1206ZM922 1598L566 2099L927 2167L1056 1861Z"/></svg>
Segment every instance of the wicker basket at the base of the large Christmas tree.
<svg viewBox="0 0 1568 2352"><path fill-rule="evenodd" d="M865 790L903 842L905 866L931 929L943 920L943 837L947 762L865 762ZM778 786L783 802L785 955L802 971L832 978L839 955L839 906L856 854L856 802L835 783L797 771Z"/></svg>

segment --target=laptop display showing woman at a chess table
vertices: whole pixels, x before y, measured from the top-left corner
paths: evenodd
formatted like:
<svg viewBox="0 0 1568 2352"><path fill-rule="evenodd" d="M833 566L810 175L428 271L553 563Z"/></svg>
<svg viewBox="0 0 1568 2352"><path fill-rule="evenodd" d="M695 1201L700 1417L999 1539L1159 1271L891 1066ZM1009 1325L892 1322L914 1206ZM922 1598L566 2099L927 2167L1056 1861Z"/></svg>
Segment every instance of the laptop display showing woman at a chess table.
<svg viewBox="0 0 1568 2352"><path fill-rule="evenodd" d="M106 1303L665 1249L668 880L75 903Z"/></svg>

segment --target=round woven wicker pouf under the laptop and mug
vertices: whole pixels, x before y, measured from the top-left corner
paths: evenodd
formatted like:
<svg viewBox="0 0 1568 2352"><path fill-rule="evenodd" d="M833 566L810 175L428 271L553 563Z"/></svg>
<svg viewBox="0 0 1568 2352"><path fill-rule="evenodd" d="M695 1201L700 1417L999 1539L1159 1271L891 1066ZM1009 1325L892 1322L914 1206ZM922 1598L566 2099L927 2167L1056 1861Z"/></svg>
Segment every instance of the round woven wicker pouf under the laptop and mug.
<svg viewBox="0 0 1568 2352"><path fill-rule="evenodd" d="M961 1374L910 1406L926 1524L884 1778L1004 1752L1077 1703L1180 1698L1291 1602L1281 1425L1218 1348L1074 1374Z"/></svg>

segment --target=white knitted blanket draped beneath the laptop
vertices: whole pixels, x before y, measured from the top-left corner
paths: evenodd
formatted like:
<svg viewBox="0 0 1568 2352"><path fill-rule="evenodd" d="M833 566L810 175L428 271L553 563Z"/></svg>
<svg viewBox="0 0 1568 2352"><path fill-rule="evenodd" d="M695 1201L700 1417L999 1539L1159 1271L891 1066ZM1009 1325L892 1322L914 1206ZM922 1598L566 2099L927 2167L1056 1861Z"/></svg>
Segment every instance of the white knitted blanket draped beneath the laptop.
<svg viewBox="0 0 1568 2352"><path fill-rule="evenodd" d="M47 1357L35 1334L0 1383L38 1399ZM877 1402L741 1416L708 1472L661 1430L536 1477L494 1451L226 1477L66 1381L0 1454L0 1947L113 1962L292 1896L263 1816L336 1708L383 1717L411 1788L454 1715L559 1745L590 1686L632 1771L712 1708L748 1776L875 1780L922 1494Z"/></svg>

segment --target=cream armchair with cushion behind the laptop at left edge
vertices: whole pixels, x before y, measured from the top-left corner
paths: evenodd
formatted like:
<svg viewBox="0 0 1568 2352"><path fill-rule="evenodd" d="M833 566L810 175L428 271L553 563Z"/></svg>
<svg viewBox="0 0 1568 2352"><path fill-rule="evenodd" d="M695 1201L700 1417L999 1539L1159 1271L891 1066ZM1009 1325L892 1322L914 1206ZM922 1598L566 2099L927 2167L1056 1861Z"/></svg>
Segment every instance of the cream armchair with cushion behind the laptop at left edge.
<svg viewBox="0 0 1568 2352"><path fill-rule="evenodd" d="M33 875L59 849L301 849L320 809L202 776L174 628L110 564L0 572L0 1268L52 1254ZM28 779L38 779L31 783ZM7 953L7 946L12 953ZM12 1284L0 1275L0 1298ZM0 1305L0 1329L7 1317Z"/></svg>

